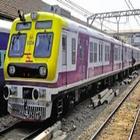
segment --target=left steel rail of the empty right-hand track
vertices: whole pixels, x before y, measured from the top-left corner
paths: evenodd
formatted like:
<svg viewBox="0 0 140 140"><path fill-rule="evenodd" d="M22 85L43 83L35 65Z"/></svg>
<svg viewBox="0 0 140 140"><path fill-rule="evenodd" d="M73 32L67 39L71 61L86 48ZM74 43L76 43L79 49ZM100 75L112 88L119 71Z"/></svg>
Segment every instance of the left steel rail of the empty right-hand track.
<svg viewBox="0 0 140 140"><path fill-rule="evenodd" d="M121 102L119 103L118 106L116 106L116 108L110 113L110 115L107 117L107 119L102 123L102 125L99 127L99 129L92 135L91 140L95 140L97 139L97 137L99 138L99 135L102 133L102 131L104 130L104 128L107 126L107 124L111 121L112 117L116 114L116 112L120 109L120 107L122 106L122 104L125 102L125 100L128 98L128 96L130 95L130 93L135 89L135 87L138 85L138 83L140 82L140 79L138 79L136 81L136 83L129 89L129 91L127 92L127 94L125 95L125 97L121 100ZM133 133L132 133L133 134Z"/></svg>

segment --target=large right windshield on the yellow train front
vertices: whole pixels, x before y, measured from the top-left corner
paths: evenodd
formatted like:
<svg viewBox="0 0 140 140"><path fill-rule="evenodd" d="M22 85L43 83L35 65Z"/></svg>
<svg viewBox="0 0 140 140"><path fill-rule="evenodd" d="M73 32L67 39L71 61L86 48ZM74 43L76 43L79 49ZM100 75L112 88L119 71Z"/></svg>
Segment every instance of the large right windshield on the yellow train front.
<svg viewBox="0 0 140 140"><path fill-rule="evenodd" d="M51 54L53 33L38 33L35 44L35 57L49 57Z"/></svg>

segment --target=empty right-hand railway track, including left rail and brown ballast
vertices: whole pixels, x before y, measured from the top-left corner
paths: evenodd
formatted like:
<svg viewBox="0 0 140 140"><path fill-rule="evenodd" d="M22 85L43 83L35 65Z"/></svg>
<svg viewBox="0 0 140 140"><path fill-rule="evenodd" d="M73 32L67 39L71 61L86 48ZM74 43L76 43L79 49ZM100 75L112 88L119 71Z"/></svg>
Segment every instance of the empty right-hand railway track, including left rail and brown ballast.
<svg viewBox="0 0 140 140"><path fill-rule="evenodd" d="M134 118L138 110L137 108L140 103L137 86L140 85L139 81L140 80L138 79L131 89L129 89L120 104L111 112L96 133L93 134L91 140L123 140L129 138Z"/></svg>

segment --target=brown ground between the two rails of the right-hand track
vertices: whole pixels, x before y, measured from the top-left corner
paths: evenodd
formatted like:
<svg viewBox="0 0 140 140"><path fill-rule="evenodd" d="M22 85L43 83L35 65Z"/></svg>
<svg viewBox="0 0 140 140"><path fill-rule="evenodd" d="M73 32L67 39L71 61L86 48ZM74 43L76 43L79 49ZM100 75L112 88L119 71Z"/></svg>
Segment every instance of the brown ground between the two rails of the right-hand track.
<svg viewBox="0 0 140 140"><path fill-rule="evenodd" d="M140 83L101 132L97 140L127 140L140 104Z"/></svg>

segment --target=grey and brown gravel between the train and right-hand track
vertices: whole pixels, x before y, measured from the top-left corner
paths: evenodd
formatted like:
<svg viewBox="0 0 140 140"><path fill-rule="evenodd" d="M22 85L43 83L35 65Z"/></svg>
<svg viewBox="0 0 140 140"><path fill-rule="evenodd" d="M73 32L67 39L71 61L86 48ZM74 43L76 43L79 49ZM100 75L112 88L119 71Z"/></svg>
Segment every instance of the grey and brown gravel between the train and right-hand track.
<svg viewBox="0 0 140 140"><path fill-rule="evenodd" d="M62 130L68 133L68 140L88 140L97 128L105 121L107 116L119 104L120 100L125 96L124 89L131 88L131 85L120 86L120 94L107 105L104 104L95 109L89 107L90 101L86 100L76 106L67 117L62 120ZM118 88L118 86L114 87Z"/></svg>

